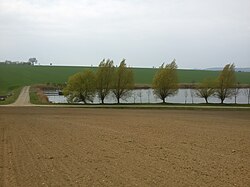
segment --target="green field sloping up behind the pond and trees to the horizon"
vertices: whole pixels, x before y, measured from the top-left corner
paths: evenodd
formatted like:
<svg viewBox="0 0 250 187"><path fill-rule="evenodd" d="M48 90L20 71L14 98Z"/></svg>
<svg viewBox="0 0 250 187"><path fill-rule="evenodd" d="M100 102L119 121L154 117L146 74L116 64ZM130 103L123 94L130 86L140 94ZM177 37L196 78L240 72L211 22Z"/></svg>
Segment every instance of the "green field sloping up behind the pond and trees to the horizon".
<svg viewBox="0 0 250 187"><path fill-rule="evenodd" d="M0 64L0 94L24 85L37 83L65 83L76 72L95 67L29 66ZM133 68L136 84L151 85L157 69ZM198 83L206 77L215 78L218 71L178 70L179 83ZM250 72L236 72L237 81L250 84Z"/></svg>

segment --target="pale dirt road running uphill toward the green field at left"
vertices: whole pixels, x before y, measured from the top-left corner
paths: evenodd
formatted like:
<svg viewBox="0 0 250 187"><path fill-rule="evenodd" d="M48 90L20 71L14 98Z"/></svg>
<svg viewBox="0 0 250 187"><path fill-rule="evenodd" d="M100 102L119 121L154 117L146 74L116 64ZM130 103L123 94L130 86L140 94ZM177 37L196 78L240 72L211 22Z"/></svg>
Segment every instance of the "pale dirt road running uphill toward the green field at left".
<svg viewBox="0 0 250 187"><path fill-rule="evenodd" d="M30 103L29 89L30 86L23 87L17 100L9 106L31 106L32 104Z"/></svg>

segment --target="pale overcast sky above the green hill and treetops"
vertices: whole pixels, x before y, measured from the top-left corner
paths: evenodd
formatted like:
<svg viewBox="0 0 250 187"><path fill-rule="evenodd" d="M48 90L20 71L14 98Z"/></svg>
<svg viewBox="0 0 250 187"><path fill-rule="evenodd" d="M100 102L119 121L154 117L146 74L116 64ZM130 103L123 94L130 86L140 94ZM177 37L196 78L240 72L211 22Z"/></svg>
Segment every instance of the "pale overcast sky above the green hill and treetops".
<svg viewBox="0 0 250 187"><path fill-rule="evenodd" d="M0 61L250 66L249 0L0 0Z"/></svg>

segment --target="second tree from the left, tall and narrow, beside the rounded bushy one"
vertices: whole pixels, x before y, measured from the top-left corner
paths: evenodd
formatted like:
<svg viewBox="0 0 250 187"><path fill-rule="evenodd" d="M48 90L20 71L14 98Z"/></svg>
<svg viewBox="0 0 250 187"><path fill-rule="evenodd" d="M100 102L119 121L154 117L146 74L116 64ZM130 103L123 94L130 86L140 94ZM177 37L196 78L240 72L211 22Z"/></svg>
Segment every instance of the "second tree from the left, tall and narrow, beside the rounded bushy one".
<svg viewBox="0 0 250 187"><path fill-rule="evenodd" d="M114 64L112 60L103 59L96 72L96 90L97 95L104 104L105 97L110 93L114 77Z"/></svg>

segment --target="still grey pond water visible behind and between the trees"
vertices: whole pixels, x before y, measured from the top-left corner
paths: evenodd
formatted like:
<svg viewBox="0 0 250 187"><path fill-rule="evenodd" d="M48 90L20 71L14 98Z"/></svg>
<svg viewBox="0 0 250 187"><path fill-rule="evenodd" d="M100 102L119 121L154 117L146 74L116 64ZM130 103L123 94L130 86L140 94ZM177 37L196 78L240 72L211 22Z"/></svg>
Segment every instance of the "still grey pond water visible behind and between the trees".
<svg viewBox="0 0 250 187"><path fill-rule="evenodd" d="M58 94L46 94L48 99L52 103L68 103L67 98ZM244 95L244 89L240 90L237 96L238 104L247 104L247 96ZM105 103L112 104L117 103L116 98L109 94L105 98ZM162 101L155 97L153 94L153 89L136 89L131 91L131 94L126 99L121 99L120 103L161 103ZM205 103L205 99L199 98L195 95L195 90L193 89L179 89L178 94L172 97L167 97L166 102L168 103ZM208 99L209 103L220 103L220 100L215 97L210 97ZM235 98L227 98L224 103L234 103ZM100 99L96 96L94 98L94 104L101 103Z"/></svg>

